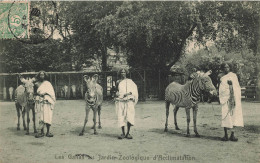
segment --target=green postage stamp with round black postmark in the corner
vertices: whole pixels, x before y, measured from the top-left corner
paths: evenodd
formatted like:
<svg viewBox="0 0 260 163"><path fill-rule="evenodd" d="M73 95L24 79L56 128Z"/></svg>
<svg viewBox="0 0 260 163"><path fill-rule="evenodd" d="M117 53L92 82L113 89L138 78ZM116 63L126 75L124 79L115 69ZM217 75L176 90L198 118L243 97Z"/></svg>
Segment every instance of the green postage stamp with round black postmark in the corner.
<svg viewBox="0 0 260 163"><path fill-rule="evenodd" d="M51 38L57 24L52 1L0 2L0 39L38 44Z"/></svg>

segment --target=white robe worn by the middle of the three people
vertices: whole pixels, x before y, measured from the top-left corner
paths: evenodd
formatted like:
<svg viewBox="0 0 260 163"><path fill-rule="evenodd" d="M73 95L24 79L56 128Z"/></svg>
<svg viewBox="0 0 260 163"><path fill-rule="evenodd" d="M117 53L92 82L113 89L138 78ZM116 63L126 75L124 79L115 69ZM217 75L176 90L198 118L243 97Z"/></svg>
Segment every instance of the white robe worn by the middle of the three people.
<svg viewBox="0 0 260 163"><path fill-rule="evenodd" d="M127 122L135 124L135 105L138 102L138 90L136 84L131 79L124 79L118 85L119 97L116 100L116 114L118 126L126 126ZM124 97L126 93L132 93ZM133 99L133 100L129 100Z"/></svg>

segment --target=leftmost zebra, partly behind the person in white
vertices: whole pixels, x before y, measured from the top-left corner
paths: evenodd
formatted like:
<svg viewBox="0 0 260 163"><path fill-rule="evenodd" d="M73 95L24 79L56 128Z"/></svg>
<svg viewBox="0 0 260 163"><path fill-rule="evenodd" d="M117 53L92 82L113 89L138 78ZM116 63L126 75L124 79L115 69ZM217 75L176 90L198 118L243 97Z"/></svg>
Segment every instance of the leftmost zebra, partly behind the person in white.
<svg viewBox="0 0 260 163"><path fill-rule="evenodd" d="M27 130L26 135L29 135L29 113L32 110L34 133L37 133L35 126L35 102L34 102L34 78L33 79L21 79L24 85L20 85L15 90L15 106L18 116L17 130L20 130L20 111L22 112L23 127ZM27 127L25 124L25 112L27 113Z"/></svg>

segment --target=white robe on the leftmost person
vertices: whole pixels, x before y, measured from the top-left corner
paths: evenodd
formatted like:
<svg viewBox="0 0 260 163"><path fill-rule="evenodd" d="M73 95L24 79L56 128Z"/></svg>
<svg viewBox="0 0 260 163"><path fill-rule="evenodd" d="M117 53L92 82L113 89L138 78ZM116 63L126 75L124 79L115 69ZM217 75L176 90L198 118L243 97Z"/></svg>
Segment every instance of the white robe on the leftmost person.
<svg viewBox="0 0 260 163"><path fill-rule="evenodd" d="M52 112L56 102L54 89L49 81L44 81L37 89L35 110L39 122L52 123Z"/></svg>

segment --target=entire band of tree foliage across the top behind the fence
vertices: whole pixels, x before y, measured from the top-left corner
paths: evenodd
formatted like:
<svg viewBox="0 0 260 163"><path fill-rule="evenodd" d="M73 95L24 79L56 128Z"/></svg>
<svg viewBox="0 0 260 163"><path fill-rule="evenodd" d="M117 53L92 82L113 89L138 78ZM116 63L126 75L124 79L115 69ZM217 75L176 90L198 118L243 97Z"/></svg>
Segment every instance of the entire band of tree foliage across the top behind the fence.
<svg viewBox="0 0 260 163"><path fill-rule="evenodd" d="M185 55L190 42L206 48L209 41L214 42L221 56L246 51L241 53L244 58L244 55L253 57L259 48L259 4L55 2L56 32L61 39L49 39L37 45L2 40L2 71L66 71L72 70L71 63L79 70L83 63L91 65L92 61L99 60L104 71L108 69L107 48L125 52L131 67L170 70ZM46 20L45 23L53 24L51 17ZM207 63L204 67L217 69L217 63L222 61L220 56L206 52L202 56L194 55L192 64L196 65L195 60L200 58L196 61L198 65Z"/></svg>

